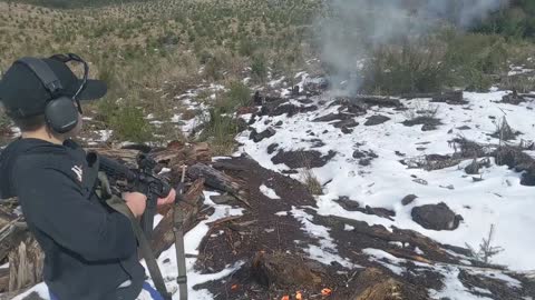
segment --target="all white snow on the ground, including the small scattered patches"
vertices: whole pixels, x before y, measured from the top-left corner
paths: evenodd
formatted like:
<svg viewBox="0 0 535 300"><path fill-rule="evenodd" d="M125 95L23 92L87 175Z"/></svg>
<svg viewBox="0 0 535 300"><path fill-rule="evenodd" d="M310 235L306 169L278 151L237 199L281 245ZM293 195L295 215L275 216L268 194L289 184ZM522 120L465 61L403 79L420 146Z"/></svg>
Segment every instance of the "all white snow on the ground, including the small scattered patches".
<svg viewBox="0 0 535 300"><path fill-rule="evenodd" d="M295 76L300 79L298 84L303 88L304 84L313 79L304 72ZM285 78L274 79L269 83L270 87L285 87ZM206 90L212 92L221 90L222 87L208 87ZM289 170L284 164L274 164L271 158L276 154L268 154L268 147L278 143L279 150L310 150L311 139L320 139L324 146L313 150L324 154L329 151L335 151L337 154L322 168L312 169L313 173L323 184L323 196L319 196L318 208L315 209L322 216L340 216L359 221L366 221L368 224L381 224L387 229L392 226L401 229L411 229L422 234L438 240L442 243L449 243L459 247L470 244L477 248L481 238L486 237L490 224L495 224L496 232L494 238L495 246L504 248L504 251L493 258L494 263L505 264L512 270L527 271L535 270L535 257L531 256L531 249L535 244L535 236L532 234L532 228L535 227L534 188L519 184L521 173L516 173L507 167L497 167L481 169L483 181L475 182L471 176L464 172L464 167L470 163L470 160L461 162L459 166L436 170L425 171L421 169L409 169L400 163L405 158L421 157L424 154L449 154L454 152L448 143L457 136L483 143L497 143L498 140L489 137L496 131L497 122L503 117L507 118L508 123L515 130L522 132L517 141L535 140L535 102L524 102L519 106L497 103L506 91L489 91L487 93L466 92L465 98L468 101L463 106L450 106L447 103L430 103L429 99L402 100L409 111L434 110L437 108L436 118L442 122L436 130L421 131L421 126L406 127L401 122L410 118L410 113L397 111L392 108L370 108L366 116L356 117L360 124L356 127L352 133L343 134L340 129L325 122L312 122L313 119L329 113L338 112L338 107L331 104L331 97L323 94L312 98L319 110L308 113L299 113L291 118L286 116L263 117L252 126L257 132L282 121L281 127L276 127L276 134L264 139L257 143L250 140L250 131L243 132L236 137L242 143L240 153L246 152L259 163L274 171ZM193 99L198 94L197 90L191 90L177 99L183 101L188 109L205 109L204 103L196 103ZM286 89L280 90L281 96L288 96ZM212 98L212 96L211 96ZM291 100L292 103L299 103L298 99ZM368 117L381 114L390 118L389 121L366 127ZM494 117L493 119L489 117ZM194 118L188 121L182 120L179 114L173 118L173 122L184 121L182 128L184 132L189 132L204 117ZM270 120L269 123L264 121ZM464 129L459 129L465 127ZM467 129L466 127L469 127ZM313 136L311 134L313 133ZM109 132L100 132L103 140ZM378 156L367 167L358 163L358 159L352 157L353 151L372 151ZM396 154L398 152L398 154ZM299 174L292 176L300 180ZM415 178L425 180L427 184L415 182ZM445 188L449 187L449 188ZM453 188L451 188L453 187ZM273 201L280 197L276 192L265 184L260 188L261 192ZM213 299L207 290L195 290L194 287L200 283L218 280L230 276L239 269L243 262L236 262L217 273L201 273L194 269L195 256L198 254L198 246L204 236L208 232L207 223L217 219L241 214L241 209L233 209L224 204L215 204L210 200L213 193L205 192L205 203L215 209L215 212L202 221L185 237L186 253L192 254L187 258L187 274L191 299ZM401 199L407 194L416 194L418 198L409 206L402 206ZM364 214L359 211L347 211L333 200L340 197L348 197L358 201L361 207L381 207L396 212L393 220L380 218L372 214ZM411 209L417 206L445 202L458 214L461 214L461 221L458 229L454 231L434 231L427 230L412 221ZM335 241L330 236L330 229L323 226L314 224L313 218L305 212L303 208L292 208L290 211L278 212L276 216L292 216L302 224L302 230L318 240L319 243L310 244L303 249L310 258L322 263L329 264L333 261L339 262L346 268L361 268L337 252ZM276 218L274 216L274 218ZM157 218L159 221L160 218ZM352 230L346 226L346 230ZM216 233L214 233L216 234ZM403 247L400 244L399 247ZM392 272L402 274L406 269L402 266L406 260L396 258L380 249L364 249L370 261L381 263ZM416 252L422 252L417 249ZM164 278L168 279L167 288L171 291L177 290L174 278L177 276L175 248L172 247L158 258ZM450 299L493 299L488 290L470 290L466 288L458 279L459 268L453 266L426 264L418 262L417 266L422 269L432 269L445 276L445 288L442 290L430 290L434 299L449 297ZM467 269L463 269L467 271ZM468 270L469 272L488 276L500 279L512 287L519 284L515 279L506 274L493 271ZM484 273L481 273L484 272ZM476 288L477 289L477 288ZM14 299L23 297L36 291L43 299L48 298L48 290L43 283L30 289L27 293ZM480 297L474 296L477 292ZM487 296L488 297L485 297ZM139 300L148 299L142 294ZM175 293L174 299L178 299Z"/></svg>

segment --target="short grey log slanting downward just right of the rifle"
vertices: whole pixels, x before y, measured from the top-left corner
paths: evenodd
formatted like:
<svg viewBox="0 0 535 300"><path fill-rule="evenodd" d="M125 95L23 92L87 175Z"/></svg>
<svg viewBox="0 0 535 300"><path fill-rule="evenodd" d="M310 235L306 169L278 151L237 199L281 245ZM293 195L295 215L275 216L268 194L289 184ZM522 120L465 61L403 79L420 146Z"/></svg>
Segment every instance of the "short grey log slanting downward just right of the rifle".
<svg viewBox="0 0 535 300"><path fill-rule="evenodd" d="M206 180L206 186L216 190L228 192L247 207L251 207L247 201L247 192L245 191L243 184L223 172L220 172L204 163L195 163L187 169L187 177L193 180L204 178Z"/></svg>

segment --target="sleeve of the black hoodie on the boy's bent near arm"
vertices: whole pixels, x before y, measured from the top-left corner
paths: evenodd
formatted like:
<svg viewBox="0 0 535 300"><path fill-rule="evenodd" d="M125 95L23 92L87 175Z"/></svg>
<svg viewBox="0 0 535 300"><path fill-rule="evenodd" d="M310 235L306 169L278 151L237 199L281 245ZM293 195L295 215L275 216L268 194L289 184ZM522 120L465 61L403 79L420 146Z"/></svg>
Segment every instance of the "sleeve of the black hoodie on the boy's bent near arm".
<svg viewBox="0 0 535 300"><path fill-rule="evenodd" d="M22 164L13 181L22 212L37 230L88 261L124 259L136 251L129 220L86 199L70 169Z"/></svg>

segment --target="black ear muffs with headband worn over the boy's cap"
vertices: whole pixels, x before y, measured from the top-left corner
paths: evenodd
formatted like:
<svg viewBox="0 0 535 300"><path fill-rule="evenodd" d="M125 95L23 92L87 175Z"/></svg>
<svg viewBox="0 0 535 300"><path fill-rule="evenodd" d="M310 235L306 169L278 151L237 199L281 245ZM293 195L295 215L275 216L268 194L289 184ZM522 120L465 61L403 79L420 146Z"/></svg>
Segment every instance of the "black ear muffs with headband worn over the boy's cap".
<svg viewBox="0 0 535 300"><path fill-rule="evenodd" d="M78 113L81 114L81 106L77 96L84 90L89 68L87 63L76 54L57 54L51 59L64 63L68 61L78 61L84 63L84 80L78 91L72 97L62 96L64 87L54 73L50 67L38 58L22 58L18 61L26 64L41 80L45 88L52 97L45 108L45 120L47 124L57 133L66 133L78 124ZM76 104L75 104L76 102Z"/></svg>

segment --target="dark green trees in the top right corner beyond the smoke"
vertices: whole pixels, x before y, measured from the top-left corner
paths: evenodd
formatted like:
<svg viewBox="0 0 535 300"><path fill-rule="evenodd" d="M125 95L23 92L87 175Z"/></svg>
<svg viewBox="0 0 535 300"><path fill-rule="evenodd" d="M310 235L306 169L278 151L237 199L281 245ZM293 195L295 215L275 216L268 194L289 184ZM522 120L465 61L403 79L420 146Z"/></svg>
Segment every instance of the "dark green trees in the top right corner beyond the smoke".
<svg viewBox="0 0 535 300"><path fill-rule="evenodd" d="M508 9L493 13L476 31L535 38L535 0L512 0Z"/></svg>

